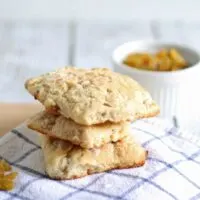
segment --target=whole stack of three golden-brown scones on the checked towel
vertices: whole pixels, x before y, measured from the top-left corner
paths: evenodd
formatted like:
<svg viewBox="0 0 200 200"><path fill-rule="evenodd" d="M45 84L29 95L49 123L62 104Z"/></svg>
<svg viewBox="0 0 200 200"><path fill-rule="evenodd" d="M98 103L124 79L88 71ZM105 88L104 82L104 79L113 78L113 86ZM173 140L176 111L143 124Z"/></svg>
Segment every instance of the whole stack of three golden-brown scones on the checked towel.
<svg viewBox="0 0 200 200"><path fill-rule="evenodd" d="M147 153L130 123L159 108L133 79L105 68L66 67L28 80L45 107L28 127L41 133L47 174L73 179L116 168L142 166Z"/></svg>

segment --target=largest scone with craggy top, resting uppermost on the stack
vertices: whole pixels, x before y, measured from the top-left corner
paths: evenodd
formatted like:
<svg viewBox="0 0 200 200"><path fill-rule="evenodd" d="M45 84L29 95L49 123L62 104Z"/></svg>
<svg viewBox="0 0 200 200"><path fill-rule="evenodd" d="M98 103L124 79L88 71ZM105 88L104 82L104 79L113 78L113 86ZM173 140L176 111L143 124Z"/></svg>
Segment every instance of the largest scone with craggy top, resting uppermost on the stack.
<svg viewBox="0 0 200 200"><path fill-rule="evenodd" d="M133 121L159 113L136 81L106 68L66 67L32 78L25 87L47 111L83 125Z"/></svg>

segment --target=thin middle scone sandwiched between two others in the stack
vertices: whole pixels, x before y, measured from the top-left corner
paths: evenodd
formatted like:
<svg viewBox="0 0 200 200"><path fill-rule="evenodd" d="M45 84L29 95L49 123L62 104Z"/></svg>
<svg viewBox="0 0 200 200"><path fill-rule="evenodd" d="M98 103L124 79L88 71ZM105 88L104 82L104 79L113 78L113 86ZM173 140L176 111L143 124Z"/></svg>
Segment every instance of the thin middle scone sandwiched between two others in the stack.
<svg viewBox="0 0 200 200"><path fill-rule="evenodd" d="M130 133L130 123L105 123L85 126L75 123L61 115L52 115L45 111L36 114L28 122L28 127L83 148L100 147L109 142L116 142Z"/></svg>

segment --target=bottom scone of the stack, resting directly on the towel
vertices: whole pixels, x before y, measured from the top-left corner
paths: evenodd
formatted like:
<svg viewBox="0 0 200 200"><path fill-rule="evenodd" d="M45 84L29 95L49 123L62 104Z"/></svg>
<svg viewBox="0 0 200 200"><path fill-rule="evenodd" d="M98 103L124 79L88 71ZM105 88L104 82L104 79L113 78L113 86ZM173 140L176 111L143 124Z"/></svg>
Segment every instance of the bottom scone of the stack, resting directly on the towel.
<svg viewBox="0 0 200 200"><path fill-rule="evenodd" d="M131 138L100 148L83 149L41 135L46 173L53 179L75 179L111 169L144 165L147 152Z"/></svg>

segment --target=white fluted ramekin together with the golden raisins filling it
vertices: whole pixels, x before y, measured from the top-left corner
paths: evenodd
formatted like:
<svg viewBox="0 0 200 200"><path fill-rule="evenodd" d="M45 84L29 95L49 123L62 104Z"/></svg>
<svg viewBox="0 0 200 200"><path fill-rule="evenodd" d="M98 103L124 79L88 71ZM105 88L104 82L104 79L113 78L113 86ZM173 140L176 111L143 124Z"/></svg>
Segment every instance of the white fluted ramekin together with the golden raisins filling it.
<svg viewBox="0 0 200 200"><path fill-rule="evenodd" d="M195 48L174 42L131 41L113 51L112 63L116 72L149 90L160 105L161 116L197 113L200 93L194 91L200 86L200 54Z"/></svg>

